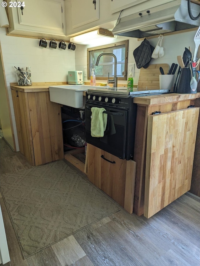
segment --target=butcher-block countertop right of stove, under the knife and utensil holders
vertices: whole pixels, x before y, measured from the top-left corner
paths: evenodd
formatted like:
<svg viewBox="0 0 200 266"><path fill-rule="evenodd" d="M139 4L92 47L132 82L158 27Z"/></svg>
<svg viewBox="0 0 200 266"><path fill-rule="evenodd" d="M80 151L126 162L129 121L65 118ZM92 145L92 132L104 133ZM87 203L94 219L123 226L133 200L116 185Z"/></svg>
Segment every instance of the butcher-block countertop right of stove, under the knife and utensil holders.
<svg viewBox="0 0 200 266"><path fill-rule="evenodd" d="M135 97L133 98L133 102L140 105L161 105L196 98L200 98L199 92L194 94L167 93L161 95Z"/></svg>

